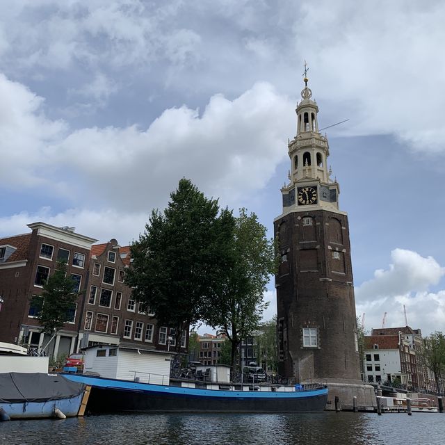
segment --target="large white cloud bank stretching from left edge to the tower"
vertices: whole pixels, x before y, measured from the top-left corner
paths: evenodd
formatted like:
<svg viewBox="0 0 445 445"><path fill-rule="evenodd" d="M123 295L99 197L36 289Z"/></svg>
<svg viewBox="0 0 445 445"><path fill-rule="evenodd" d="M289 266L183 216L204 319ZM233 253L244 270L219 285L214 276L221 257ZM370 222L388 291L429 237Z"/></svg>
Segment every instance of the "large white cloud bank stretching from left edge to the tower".
<svg viewBox="0 0 445 445"><path fill-rule="evenodd" d="M267 184L286 156L283 136L295 126L293 103L267 83L232 101L215 95L202 115L187 106L170 108L146 130L92 127L71 133L62 122L45 119L42 98L24 86L1 76L1 91L7 155L0 181L21 188L48 184L50 190L58 184L90 208L163 206L181 177L236 207L241 196Z"/></svg>

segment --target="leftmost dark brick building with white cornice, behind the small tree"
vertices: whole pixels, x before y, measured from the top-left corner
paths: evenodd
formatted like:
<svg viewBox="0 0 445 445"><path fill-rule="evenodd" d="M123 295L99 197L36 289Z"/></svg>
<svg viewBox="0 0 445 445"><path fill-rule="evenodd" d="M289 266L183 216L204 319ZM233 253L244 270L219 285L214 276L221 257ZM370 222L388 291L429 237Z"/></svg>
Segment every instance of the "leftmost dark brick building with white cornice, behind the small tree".
<svg viewBox="0 0 445 445"><path fill-rule="evenodd" d="M57 261L67 261L68 273L83 289L88 281L88 258L95 238L74 232L73 227L54 227L45 223L29 224L31 233L0 238L0 341L42 348L51 336L41 334L36 319L36 302L47 277ZM76 348L83 306L79 297L72 318L58 331L48 346L57 357Z"/></svg>

